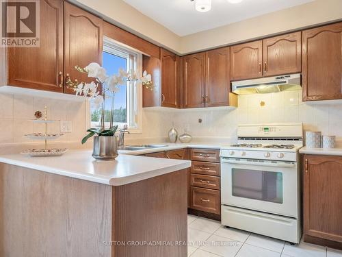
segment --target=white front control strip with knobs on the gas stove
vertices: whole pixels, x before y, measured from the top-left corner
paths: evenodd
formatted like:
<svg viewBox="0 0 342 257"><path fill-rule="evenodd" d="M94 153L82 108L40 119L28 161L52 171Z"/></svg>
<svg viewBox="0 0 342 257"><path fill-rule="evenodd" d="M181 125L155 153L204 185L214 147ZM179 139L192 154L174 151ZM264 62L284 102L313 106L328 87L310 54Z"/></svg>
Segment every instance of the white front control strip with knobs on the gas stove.
<svg viewBox="0 0 342 257"><path fill-rule="evenodd" d="M221 149L221 157L259 159L259 160L283 160L292 161L297 160L297 153L295 151L253 151L253 150L236 150L236 149Z"/></svg>

